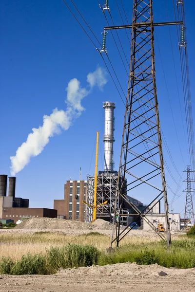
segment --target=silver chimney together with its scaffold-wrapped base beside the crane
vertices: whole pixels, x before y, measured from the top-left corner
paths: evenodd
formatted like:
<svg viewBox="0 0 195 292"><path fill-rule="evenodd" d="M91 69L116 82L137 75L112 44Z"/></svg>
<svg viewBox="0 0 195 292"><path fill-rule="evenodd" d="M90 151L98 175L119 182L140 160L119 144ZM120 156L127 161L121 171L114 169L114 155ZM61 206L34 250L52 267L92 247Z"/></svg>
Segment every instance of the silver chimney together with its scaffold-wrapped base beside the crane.
<svg viewBox="0 0 195 292"><path fill-rule="evenodd" d="M117 192L118 173L114 170L113 143L114 138L114 109L115 103L106 101L104 108L104 170L98 172L97 178L97 205L107 201L107 204L101 205L97 209L97 218L110 221L114 216L115 198ZM94 204L94 176L87 177L87 203ZM119 202L117 203L119 206ZM92 222L93 209L88 205L86 212L86 221Z"/></svg>

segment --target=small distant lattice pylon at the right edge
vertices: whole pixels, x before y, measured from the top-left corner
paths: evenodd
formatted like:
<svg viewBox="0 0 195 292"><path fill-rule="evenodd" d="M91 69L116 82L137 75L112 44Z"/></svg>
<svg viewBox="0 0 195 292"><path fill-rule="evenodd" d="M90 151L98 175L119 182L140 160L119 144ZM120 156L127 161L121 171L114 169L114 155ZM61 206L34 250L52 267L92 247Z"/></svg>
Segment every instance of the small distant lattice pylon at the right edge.
<svg viewBox="0 0 195 292"><path fill-rule="evenodd" d="M193 208L193 201L192 201L192 192L195 192L195 189L191 188L191 183L195 182L190 177L191 172L195 172L195 170L190 169L190 165L187 166L187 180L184 182L187 183L187 188L183 191L186 192L186 206L185 206L185 215L184 215L184 228L188 227L188 224L195 224L195 214Z"/></svg>

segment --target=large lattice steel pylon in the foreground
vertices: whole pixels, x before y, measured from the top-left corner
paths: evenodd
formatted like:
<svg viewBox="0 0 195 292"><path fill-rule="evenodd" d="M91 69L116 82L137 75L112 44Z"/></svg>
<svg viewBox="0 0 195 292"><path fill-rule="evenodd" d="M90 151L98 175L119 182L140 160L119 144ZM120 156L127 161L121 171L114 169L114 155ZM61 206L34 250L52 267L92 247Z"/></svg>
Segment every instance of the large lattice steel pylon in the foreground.
<svg viewBox="0 0 195 292"><path fill-rule="evenodd" d="M132 28L131 60L126 97L124 128L120 165L118 172L118 197L133 208L137 222L147 221L162 239L171 244L169 206L164 173L162 141L156 93L156 70L154 52L154 27L162 25L181 24L181 21L154 23L152 0L134 0L133 21L131 25L105 27L104 31L112 29ZM120 179L122 178L122 179ZM119 185L120 180L122 183ZM126 196L131 192L140 196L154 197L154 200L142 212ZM164 212L167 237L161 234L146 214L161 199L164 201ZM120 226L120 222L119 222ZM118 233L112 243L119 241L133 228L128 226ZM125 234L126 232L126 234ZM113 228L114 233L114 228ZM111 247L112 247L111 243Z"/></svg>

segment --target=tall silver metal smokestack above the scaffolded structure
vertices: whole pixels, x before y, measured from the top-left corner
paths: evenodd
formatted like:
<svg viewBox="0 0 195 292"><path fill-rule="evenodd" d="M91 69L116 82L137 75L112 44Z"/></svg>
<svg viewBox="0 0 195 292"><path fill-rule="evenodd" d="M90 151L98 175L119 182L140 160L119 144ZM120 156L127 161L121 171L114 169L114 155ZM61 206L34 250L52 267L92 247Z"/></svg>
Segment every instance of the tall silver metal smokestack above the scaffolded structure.
<svg viewBox="0 0 195 292"><path fill-rule="evenodd" d="M105 112L105 128L104 128L104 170L110 171L114 168L113 160L113 142L114 139L114 109L115 103L106 101L103 103L103 108Z"/></svg>

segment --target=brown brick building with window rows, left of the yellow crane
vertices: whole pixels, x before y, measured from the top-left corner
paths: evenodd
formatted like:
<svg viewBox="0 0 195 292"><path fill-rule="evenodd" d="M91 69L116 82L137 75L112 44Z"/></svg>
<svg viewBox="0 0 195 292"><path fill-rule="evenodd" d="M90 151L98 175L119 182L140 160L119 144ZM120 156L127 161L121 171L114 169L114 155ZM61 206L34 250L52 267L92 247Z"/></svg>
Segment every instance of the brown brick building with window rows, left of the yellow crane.
<svg viewBox="0 0 195 292"><path fill-rule="evenodd" d="M67 181L64 184L64 199L54 200L54 209L58 210L58 216L66 216L67 219L85 221L87 181Z"/></svg>

